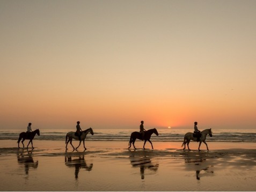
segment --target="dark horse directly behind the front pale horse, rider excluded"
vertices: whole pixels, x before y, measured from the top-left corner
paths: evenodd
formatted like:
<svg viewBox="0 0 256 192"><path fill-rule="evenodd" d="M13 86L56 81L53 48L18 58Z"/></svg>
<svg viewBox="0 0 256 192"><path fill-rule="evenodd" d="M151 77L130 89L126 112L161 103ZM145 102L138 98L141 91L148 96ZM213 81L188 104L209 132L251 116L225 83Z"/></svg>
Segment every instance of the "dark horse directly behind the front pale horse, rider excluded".
<svg viewBox="0 0 256 192"><path fill-rule="evenodd" d="M145 135L144 135L145 142L143 145L143 149L145 149L145 144L147 141L151 144L152 149L153 149L152 142L150 141L150 137L152 134L156 134L158 136L158 132L157 132L156 128L149 129L149 130L145 131ZM130 149L131 143L133 143L133 147L134 147L134 149L136 149L136 147L134 146L136 139L142 140L142 134L140 132L135 131L135 132L131 133L128 149Z"/></svg>

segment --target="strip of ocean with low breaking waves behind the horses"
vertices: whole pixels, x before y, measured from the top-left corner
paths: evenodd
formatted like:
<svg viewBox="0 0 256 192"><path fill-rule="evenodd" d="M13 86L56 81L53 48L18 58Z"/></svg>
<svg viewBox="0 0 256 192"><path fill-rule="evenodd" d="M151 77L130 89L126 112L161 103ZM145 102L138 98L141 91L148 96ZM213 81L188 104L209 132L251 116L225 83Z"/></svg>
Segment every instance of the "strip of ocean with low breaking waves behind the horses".
<svg viewBox="0 0 256 192"><path fill-rule="evenodd" d="M18 140L20 132L26 130L0 130L0 140ZM40 136L34 139L65 141L68 129L40 129ZM94 135L88 134L87 141L129 141L131 132L136 129L93 129ZM182 142L186 132L193 129L157 129L158 136L153 134L151 141L155 142ZM202 131L202 130L201 130ZM212 129L213 137L207 136L207 142L256 142L256 129Z"/></svg>

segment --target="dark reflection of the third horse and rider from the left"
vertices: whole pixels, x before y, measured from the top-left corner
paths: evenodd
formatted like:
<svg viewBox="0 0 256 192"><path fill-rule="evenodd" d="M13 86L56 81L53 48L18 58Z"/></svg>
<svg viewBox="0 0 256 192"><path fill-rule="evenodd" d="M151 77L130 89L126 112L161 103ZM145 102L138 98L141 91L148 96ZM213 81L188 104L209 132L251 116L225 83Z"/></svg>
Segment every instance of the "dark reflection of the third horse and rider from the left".
<svg viewBox="0 0 256 192"><path fill-rule="evenodd" d="M147 156L130 156L130 163L133 167L140 167L141 179L145 178L145 169L153 172L157 172L158 169L158 164L152 164L150 158Z"/></svg>

